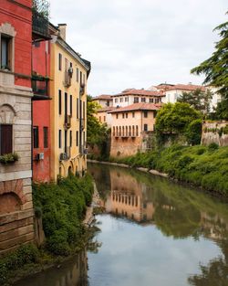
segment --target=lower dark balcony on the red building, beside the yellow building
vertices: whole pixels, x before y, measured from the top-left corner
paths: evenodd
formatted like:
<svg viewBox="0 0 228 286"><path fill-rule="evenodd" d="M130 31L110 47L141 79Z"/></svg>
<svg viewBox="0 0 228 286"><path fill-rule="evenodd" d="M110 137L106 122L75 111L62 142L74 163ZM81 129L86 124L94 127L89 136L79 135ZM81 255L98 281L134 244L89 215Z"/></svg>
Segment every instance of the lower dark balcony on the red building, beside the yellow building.
<svg viewBox="0 0 228 286"><path fill-rule="evenodd" d="M40 76L32 76L32 89L34 93L33 100L49 100L48 92L49 79Z"/></svg>

